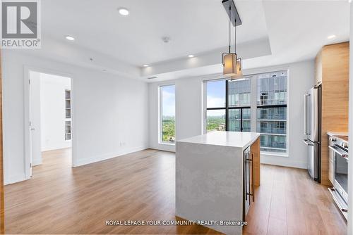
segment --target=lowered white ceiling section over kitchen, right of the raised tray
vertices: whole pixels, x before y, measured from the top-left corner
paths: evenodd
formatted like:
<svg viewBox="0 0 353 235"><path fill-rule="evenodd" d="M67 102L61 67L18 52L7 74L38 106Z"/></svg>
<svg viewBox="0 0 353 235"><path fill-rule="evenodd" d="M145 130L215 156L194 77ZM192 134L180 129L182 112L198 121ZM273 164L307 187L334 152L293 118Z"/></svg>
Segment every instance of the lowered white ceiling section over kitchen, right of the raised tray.
<svg viewBox="0 0 353 235"><path fill-rule="evenodd" d="M252 58L246 67L280 65L315 58L322 46L349 41L349 2L263 1L271 56ZM328 39L330 35L334 39Z"/></svg>

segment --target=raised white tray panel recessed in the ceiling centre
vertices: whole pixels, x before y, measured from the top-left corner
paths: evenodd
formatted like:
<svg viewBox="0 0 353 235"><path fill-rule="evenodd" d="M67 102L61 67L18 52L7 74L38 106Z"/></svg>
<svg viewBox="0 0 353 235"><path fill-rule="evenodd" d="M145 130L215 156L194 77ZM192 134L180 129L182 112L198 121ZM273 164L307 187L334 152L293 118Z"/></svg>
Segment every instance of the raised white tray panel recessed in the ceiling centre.
<svg viewBox="0 0 353 235"><path fill-rule="evenodd" d="M243 21L238 42L267 37L261 1L237 1ZM125 7L130 15L119 15ZM141 66L189 54L202 53L229 43L229 18L221 0L45 0L42 32ZM162 37L168 36L168 44Z"/></svg>

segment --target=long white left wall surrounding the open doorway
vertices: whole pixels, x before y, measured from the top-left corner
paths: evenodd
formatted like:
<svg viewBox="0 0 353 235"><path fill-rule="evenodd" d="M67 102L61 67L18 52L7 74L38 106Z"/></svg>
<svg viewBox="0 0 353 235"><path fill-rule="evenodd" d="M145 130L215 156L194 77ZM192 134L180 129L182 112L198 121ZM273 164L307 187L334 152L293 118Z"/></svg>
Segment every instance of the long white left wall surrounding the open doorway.
<svg viewBox="0 0 353 235"><path fill-rule="evenodd" d="M145 82L14 50L2 53L5 184L26 178L25 66L48 73L59 72L72 79L74 165L148 148L148 84Z"/></svg>

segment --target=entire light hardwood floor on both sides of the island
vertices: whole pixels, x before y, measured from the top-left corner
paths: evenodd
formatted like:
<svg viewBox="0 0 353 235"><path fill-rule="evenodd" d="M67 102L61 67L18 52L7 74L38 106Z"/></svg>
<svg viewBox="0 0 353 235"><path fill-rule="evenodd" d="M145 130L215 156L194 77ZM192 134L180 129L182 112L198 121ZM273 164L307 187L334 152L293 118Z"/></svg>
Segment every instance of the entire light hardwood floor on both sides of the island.
<svg viewBox="0 0 353 235"><path fill-rule="evenodd" d="M106 226L174 220L174 153L145 150L71 168L71 151L46 152L32 179L5 186L7 234L217 234L199 226ZM305 170L261 165L246 234L345 234L325 186Z"/></svg>

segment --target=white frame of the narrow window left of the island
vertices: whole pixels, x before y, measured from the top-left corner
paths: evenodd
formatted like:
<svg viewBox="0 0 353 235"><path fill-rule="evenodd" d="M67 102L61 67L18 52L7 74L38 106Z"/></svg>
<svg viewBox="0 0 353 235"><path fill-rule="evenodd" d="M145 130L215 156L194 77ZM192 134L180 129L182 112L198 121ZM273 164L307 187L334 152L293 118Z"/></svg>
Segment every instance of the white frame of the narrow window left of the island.
<svg viewBox="0 0 353 235"><path fill-rule="evenodd" d="M163 141L163 95L162 95L162 87L170 87L174 86L174 143L168 143ZM176 100L177 100L177 89L174 83L166 83L158 85L158 144L175 146L175 142L177 139L177 113L176 113Z"/></svg>

